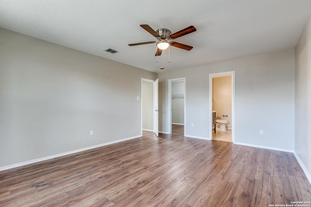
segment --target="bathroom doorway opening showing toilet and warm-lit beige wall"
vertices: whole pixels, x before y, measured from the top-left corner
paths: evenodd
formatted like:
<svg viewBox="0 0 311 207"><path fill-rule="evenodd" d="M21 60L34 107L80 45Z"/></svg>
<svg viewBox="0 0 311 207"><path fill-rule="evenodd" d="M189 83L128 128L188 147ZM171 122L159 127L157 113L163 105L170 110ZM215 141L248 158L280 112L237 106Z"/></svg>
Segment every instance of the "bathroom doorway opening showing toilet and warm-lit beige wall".
<svg viewBox="0 0 311 207"><path fill-rule="evenodd" d="M235 143L234 86L234 71L209 75L209 137L211 140ZM213 112L216 113L216 124L213 124Z"/></svg>

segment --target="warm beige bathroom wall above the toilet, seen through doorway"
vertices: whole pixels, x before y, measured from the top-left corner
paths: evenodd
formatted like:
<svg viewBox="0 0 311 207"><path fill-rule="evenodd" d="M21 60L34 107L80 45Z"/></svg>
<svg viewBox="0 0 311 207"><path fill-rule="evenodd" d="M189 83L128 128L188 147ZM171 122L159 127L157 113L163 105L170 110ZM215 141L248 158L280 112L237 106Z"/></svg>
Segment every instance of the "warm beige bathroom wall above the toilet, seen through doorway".
<svg viewBox="0 0 311 207"><path fill-rule="evenodd" d="M213 100L216 119L227 120L226 127L232 127L232 86L231 75L213 78ZM223 115L227 115L224 117Z"/></svg>

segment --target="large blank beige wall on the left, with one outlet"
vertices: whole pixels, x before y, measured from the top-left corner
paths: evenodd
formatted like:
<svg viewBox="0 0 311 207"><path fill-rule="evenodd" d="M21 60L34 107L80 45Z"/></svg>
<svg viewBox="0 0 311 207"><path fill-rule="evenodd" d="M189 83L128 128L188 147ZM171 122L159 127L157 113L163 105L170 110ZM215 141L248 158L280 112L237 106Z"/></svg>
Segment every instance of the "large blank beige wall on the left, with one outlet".
<svg viewBox="0 0 311 207"><path fill-rule="evenodd" d="M0 167L139 136L141 78L157 74L0 29Z"/></svg>

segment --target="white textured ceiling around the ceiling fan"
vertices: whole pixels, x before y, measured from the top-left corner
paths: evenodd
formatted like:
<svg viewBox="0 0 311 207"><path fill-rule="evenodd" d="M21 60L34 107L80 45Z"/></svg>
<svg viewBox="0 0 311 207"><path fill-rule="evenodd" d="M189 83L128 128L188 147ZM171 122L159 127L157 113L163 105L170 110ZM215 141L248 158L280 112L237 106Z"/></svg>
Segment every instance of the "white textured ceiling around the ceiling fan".
<svg viewBox="0 0 311 207"><path fill-rule="evenodd" d="M294 48L311 0L0 0L0 27L154 72ZM156 63L156 41L139 25L172 33L193 46L171 47ZM106 48L120 51L111 54ZM164 70L160 70L164 67Z"/></svg>

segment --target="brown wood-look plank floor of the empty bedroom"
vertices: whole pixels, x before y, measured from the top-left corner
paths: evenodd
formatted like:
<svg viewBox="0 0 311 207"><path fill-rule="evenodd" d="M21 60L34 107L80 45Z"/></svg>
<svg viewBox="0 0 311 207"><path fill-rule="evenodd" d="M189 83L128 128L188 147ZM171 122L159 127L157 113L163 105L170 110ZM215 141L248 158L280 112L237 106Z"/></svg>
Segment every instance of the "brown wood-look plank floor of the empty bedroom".
<svg viewBox="0 0 311 207"><path fill-rule="evenodd" d="M143 132L0 172L0 206L269 207L311 201L293 153Z"/></svg>

